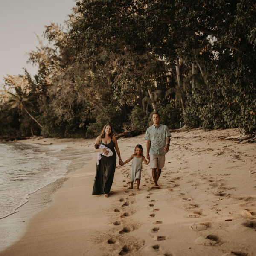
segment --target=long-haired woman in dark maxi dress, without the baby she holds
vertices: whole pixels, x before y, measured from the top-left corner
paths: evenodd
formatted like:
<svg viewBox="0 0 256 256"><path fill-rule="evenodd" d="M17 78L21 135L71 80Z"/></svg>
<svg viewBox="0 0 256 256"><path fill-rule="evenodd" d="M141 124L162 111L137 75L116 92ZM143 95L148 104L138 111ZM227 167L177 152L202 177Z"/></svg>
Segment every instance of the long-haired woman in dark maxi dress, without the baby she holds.
<svg viewBox="0 0 256 256"><path fill-rule="evenodd" d="M105 197L108 197L116 169L116 153L119 157L119 164L123 165L117 140L113 135L113 129L110 124L106 124L104 126L102 134L97 137L95 144L102 144L113 152L113 155L108 157L108 151L105 148L94 148L95 152L103 151L105 155L102 155L101 160L99 160L99 164L96 165L93 195L104 194Z"/></svg>

